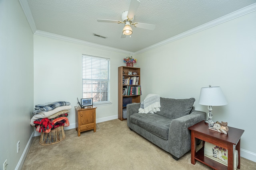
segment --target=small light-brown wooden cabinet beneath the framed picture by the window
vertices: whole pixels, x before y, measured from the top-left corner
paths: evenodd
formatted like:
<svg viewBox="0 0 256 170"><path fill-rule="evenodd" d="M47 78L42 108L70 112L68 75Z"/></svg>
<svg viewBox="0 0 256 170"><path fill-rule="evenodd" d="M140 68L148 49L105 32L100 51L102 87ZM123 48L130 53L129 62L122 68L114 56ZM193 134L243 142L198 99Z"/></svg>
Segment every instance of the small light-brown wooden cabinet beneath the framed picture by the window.
<svg viewBox="0 0 256 170"><path fill-rule="evenodd" d="M81 132L92 130L96 132L96 108L88 106L86 109L81 107L76 108L76 131L78 136Z"/></svg>

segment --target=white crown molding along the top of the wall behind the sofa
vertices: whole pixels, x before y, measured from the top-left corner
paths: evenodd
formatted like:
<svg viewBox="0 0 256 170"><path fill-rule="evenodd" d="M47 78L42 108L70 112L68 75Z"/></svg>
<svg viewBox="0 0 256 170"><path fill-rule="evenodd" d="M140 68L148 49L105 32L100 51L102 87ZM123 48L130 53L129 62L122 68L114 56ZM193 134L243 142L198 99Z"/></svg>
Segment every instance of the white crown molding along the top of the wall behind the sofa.
<svg viewBox="0 0 256 170"><path fill-rule="evenodd" d="M238 18L240 16L244 16L244 15L249 14L249 13L254 12L254 11L256 11L256 3L254 3L252 5L249 5L249 6L246 6L246 7L242 8L242 9L237 10L235 12L232 12L230 14L227 14L226 16L222 16L220 18L217 18L216 20L212 20L212 21L210 21L208 23L205 23L203 25L200 25L198 27L190 29L190 30L188 30L188 31L186 31L184 33L180 33L179 35L176 35L174 37L171 37L169 39L161 41L160 43L156 43L156 44L151 45L149 47L146 47L146 48L144 48L142 50L136 51L134 53L134 55L138 55L140 53L144 53L144 52L149 51L151 49L154 49L154 48L160 47L162 45L171 43L171 42L176 41L178 39L182 39L182 38L187 37L189 35L192 35L194 33L198 33L200 31L203 31L203 30L208 29L210 27L214 27L216 25L219 25L221 23L233 20L233 19Z"/></svg>

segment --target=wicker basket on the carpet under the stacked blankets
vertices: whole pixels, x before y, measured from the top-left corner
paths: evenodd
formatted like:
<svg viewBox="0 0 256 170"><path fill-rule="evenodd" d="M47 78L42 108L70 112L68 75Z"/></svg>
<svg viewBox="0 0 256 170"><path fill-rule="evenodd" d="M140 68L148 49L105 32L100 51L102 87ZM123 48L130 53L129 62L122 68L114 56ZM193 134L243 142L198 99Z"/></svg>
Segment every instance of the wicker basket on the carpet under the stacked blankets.
<svg viewBox="0 0 256 170"><path fill-rule="evenodd" d="M39 143L40 145L52 145L62 141L65 137L64 127L59 126L49 133L42 132Z"/></svg>

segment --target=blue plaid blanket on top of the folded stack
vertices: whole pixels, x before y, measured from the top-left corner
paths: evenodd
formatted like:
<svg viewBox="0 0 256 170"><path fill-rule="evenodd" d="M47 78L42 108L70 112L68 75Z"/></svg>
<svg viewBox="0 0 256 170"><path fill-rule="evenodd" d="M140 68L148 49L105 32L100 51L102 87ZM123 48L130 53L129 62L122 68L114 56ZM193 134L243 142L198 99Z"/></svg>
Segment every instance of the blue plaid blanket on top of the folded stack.
<svg viewBox="0 0 256 170"><path fill-rule="evenodd" d="M38 104L35 106L33 115L44 112L44 111L50 111L60 106L68 106L68 105L70 105L70 102L51 102L51 103L45 103L45 104Z"/></svg>

